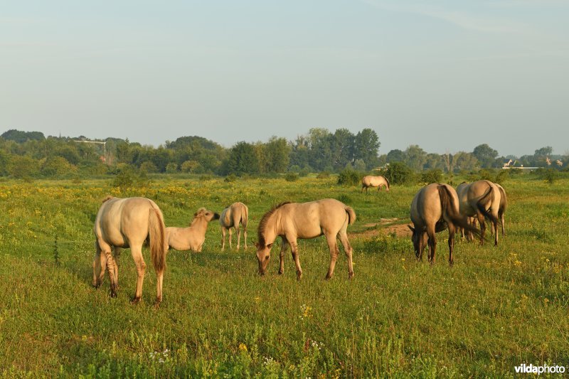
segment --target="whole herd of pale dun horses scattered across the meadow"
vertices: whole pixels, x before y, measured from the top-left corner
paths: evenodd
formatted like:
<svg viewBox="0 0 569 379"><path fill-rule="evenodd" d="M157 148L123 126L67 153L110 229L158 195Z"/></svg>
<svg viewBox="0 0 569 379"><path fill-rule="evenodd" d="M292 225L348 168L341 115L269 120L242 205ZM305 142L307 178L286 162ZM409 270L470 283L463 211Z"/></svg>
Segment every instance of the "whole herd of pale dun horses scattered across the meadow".
<svg viewBox="0 0 569 379"><path fill-rule="evenodd" d="M389 181L383 176L365 176L362 188L385 186ZM411 239L415 256L422 260L425 247L429 247L429 261L435 262L437 240L435 234L449 230L449 264L453 264L454 236L461 232L472 240L476 235L484 243L486 220L492 225L494 245L498 245L498 225L501 223L504 235L504 213L507 207L506 191L491 181L461 183L457 190L444 183L432 183L418 191L411 202L410 218L413 226ZM245 249L247 249L247 224L249 210L243 203L228 205L221 214L206 208L199 208L187 228L166 228L164 216L158 205L148 198L115 198L108 196L102 202L95 218L95 259L93 260L93 281L100 287L109 273L111 297L117 296L119 267L117 259L123 248L130 248L137 267L137 287L132 299L136 304L142 297L142 284L147 265L142 257L142 245L148 243L150 257L156 271L156 306L162 301L162 282L166 268L166 253L174 250L201 252L206 240L206 230L211 220L219 220L225 248L225 235L229 233L232 248L232 229L237 234L237 249L240 248L240 227L243 227ZM356 221L356 212L348 205L333 198L308 203L285 202L275 205L262 216L257 228L257 260L259 274L267 272L270 251L277 237L281 237L279 274L285 271L284 257L290 248L292 260L297 269L297 279L302 278L299 261L298 239L309 239L324 235L330 252L330 265L326 279L334 275L339 255L337 240L344 247L348 260L348 275L353 277L352 247L348 240L348 225ZM477 223L480 229L477 228Z"/></svg>

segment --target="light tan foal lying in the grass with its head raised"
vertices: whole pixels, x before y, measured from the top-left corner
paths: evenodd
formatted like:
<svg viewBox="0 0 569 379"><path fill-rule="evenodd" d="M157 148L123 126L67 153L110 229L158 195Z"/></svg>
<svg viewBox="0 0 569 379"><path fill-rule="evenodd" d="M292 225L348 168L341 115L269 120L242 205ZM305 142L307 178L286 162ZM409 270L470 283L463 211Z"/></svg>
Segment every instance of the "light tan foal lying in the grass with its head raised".
<svg viewBox="0 0 569 379"><path fill-rule="evenodd" d="M203 242L206 241L208 223L218 218L218 213L207 210L206 208L199 208L198 211L193 214L193 220L188 228L166 228L166 243L168 248L201 252Z"/></svg>

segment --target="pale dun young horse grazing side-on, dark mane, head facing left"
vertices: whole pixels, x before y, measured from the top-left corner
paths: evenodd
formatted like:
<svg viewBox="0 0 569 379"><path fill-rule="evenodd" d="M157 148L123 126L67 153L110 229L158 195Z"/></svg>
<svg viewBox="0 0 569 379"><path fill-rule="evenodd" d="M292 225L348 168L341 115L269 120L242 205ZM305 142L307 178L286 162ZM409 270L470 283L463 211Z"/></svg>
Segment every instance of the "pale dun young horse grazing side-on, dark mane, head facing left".
<svg viewBox="0 0 569 379"><path fill-rule="evenodd" d="M326 279L334 274L336 258L340 250L336 238L340 236L344 252L348 257L348 276L353 277L352 248L346 234L348 224L356 221L356 213L352 208L333 198L310 201L309 203L280 203L269 210L259 223L257 259L259 274L264 275L270 260L270 252L277 236L281 237L279 274L285 272L285 252L290 246L292 259L297 267L297 279L302 277L297 238L308 239L326 236L330 250L330 267Z"/></svg>

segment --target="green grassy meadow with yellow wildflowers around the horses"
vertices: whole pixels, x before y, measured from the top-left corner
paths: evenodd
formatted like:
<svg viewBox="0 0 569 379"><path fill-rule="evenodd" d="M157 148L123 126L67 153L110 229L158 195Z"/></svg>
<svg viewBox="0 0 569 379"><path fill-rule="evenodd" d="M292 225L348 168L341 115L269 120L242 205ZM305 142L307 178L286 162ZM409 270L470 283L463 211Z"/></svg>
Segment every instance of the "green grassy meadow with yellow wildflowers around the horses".
<svg viewBox="0 0 569 379"><path fill-rule="evenodd" d="M454 179L457 182L456 178ZM0 181L0 374L13 377L504 377L521 363L569 363L569 179L521 176L509 194L500 245L458 240L447 263L417 262L409 237L373 225L408 223L420 186L388 193L336 185L336 178L226 183L156 176L120 191L108 179ZM169 252L164 301L154 309L149 252L143 301L133 306L136 270L119 261L119 292L91 286L92 225L102 198L145 196L167 226L197 208L249 206L247 251L220 251L211 223L203 252ZM324 237L300 240L297 282L290 254L277 275L257 275L257 223L281 201L337 198L358 216L349 226L355 277L343 252L325 281ZM426 255L426 254L425 254Z"/></svg>

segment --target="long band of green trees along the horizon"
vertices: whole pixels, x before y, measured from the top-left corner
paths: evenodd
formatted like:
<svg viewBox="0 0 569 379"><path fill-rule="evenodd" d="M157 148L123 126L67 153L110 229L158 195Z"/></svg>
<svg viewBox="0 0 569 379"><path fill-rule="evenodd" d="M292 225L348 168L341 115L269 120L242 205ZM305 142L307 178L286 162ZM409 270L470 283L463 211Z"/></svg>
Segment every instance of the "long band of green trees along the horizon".
<svg viewBox="0 0 569 379"><path fill-rule="evenodd" d="M353 134L348 129L313 128L294 141L272 137L267 142L238 142L229 149L203 137L180 137L157 148L128 139L90 140L84 136L45 137L41 132L9 130L0 136L0 176L57 177L116 174L124 167L146 173L259 175L285 172L371 171L394 162L413 171L445 172L511 166L563 169L567 156L553 156L549 146L521 157L499 156L487 144L472 152L427 153L418 145L379 154L381 142L373 129Z"/></svg>

